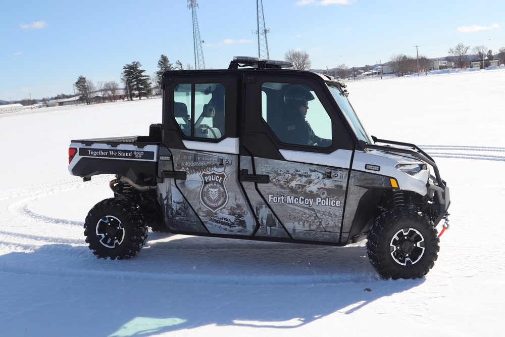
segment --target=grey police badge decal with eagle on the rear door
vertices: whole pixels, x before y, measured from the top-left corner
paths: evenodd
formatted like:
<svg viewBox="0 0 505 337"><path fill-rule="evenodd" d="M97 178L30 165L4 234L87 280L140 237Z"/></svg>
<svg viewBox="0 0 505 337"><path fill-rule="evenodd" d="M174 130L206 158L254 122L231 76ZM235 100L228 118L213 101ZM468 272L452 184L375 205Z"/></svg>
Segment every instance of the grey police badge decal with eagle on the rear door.
<svg viewBox="0 0 505 337"><path fill-rule="evenodd" d="M200 188L200 202L214 213L222 209L228 203L228 191L224 172L202 172L200 174L203 184Z"/></svg>

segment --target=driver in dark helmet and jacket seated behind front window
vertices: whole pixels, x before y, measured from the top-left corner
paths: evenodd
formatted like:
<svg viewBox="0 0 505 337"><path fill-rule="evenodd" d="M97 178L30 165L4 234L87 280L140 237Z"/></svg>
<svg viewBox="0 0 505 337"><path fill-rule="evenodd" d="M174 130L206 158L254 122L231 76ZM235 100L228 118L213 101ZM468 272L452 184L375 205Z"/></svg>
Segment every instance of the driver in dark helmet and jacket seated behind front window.
<svg viewBox="0 0 505 337"><path fill-rule="evenodd" d="M279 139L286 143L327 147L331 139L318 137L305 119L309 110L309 101L314 95L301 85L289 87L284 94L284 103L288 110L282 116Z"/></svg>

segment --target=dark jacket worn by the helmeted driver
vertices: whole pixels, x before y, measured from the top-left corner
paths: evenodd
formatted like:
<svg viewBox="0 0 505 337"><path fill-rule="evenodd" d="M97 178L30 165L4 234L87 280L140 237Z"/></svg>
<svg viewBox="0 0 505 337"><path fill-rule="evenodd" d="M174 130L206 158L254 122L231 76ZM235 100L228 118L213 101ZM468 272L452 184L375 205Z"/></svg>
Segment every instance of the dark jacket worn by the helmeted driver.
<svg viewBox="0 0 505 337"><path fill-rule="evenodd" d="M331 145L331 139L318 137L305 117L297 112L283 114L280 126L275 133L285 143L321 147Z"/></svg>

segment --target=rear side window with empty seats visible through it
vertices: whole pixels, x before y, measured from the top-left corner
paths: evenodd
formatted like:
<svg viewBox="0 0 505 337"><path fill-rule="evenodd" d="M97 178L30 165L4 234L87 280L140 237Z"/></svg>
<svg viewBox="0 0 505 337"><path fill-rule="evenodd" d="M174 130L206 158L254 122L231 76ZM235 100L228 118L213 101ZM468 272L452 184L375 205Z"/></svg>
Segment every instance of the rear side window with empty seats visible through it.
<svg viewBox="0 0 505 337"><path fill-rule="evenodd" d="M186 136L224 135L225 88L221 83L187 83L174 88L174 118Z"/></svg>

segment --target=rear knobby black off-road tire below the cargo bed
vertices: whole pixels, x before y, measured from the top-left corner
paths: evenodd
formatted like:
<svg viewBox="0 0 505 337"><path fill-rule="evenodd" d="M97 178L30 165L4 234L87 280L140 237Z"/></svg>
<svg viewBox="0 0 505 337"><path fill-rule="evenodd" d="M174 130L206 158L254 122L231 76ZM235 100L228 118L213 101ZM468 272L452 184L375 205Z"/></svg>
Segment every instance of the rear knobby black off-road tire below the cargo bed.
<svg viewBox="0 0 505 337"><path fill-rule="evenodd" d="M84 236L93 254L112 260L129 259L142 249L147 227L132 202L122 198L100 201L88 213Z"/></svg>

